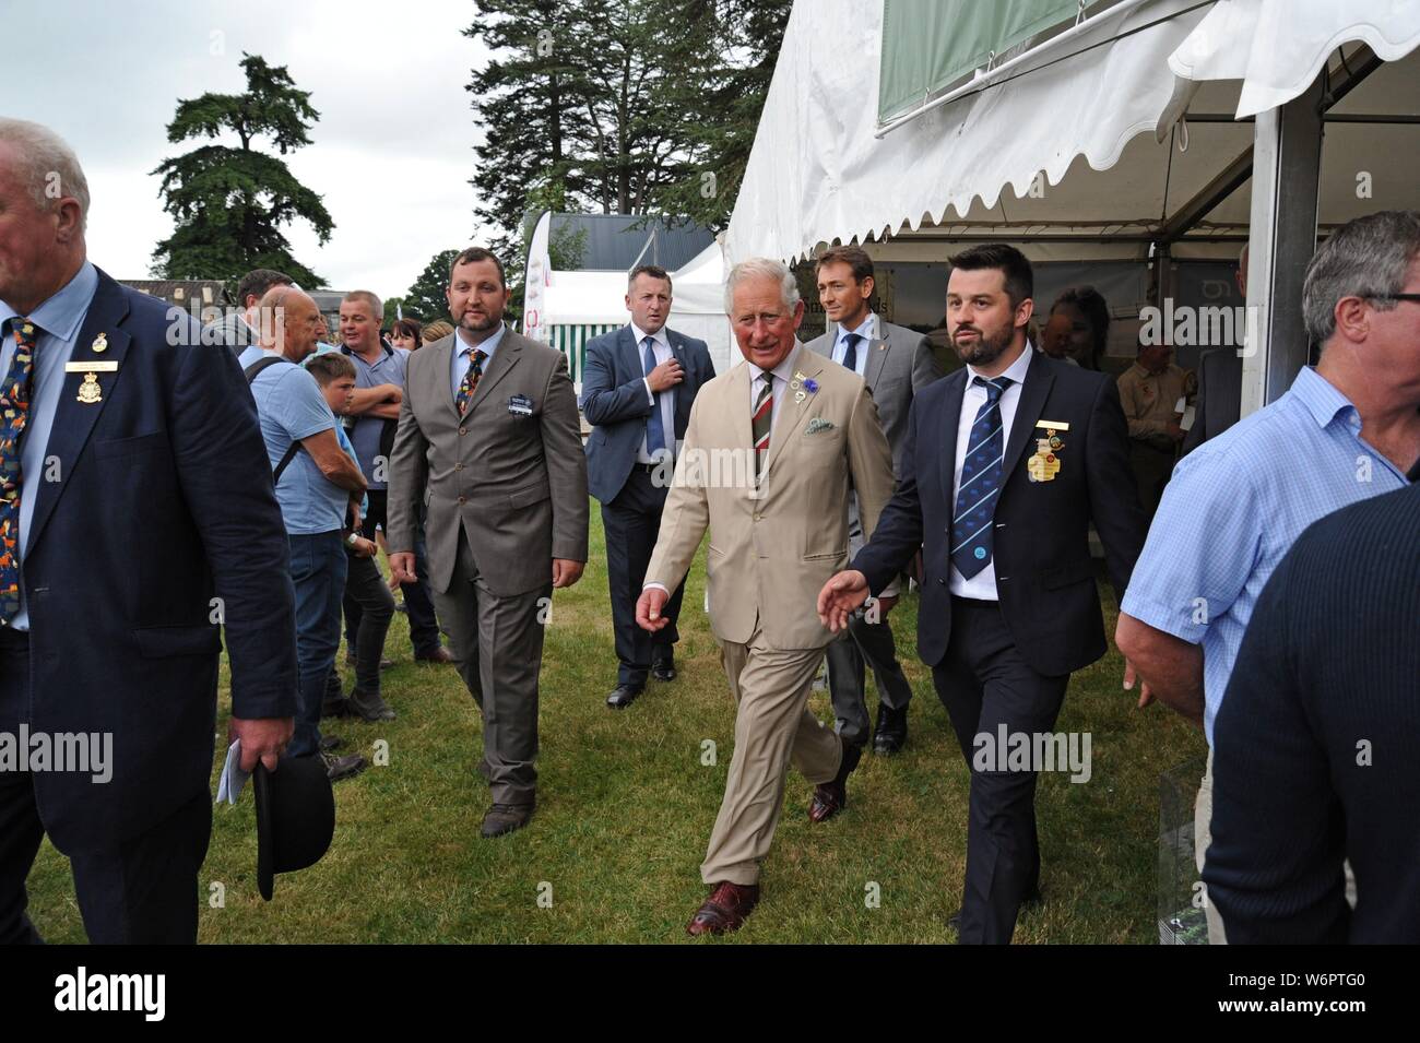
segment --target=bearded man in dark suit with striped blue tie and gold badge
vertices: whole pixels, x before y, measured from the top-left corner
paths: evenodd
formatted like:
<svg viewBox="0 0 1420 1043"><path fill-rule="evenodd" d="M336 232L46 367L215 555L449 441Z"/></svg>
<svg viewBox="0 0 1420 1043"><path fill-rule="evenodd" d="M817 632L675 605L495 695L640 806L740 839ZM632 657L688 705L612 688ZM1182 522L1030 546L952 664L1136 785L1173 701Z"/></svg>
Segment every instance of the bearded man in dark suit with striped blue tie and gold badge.
<svg viewBox="0 0 1420 1043"><path fill-rule="evenodd" d="M1105 654L1089 524L1120 596L1145 538L1115 382L1030 351L1031 294L1014 247L951 258L947 326L966 368L917 396L897 491L819 595L842 629L923 546L917 651L971 766L963 942L1008 942L1038 894L1041 763L998 746L1004 731L1039 749L1071 671Z"/></svg>

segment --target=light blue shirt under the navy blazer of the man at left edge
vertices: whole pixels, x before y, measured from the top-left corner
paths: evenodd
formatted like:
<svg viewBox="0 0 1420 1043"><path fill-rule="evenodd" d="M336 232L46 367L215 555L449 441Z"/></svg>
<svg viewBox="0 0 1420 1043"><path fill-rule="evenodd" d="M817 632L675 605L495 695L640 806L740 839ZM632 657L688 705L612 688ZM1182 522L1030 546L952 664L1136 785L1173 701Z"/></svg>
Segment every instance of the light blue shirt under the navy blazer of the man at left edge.
<svg viewBox="0 0 1420 1043"><path fill-rule="evenodd" d="M24 602L24 549L30 542L30 524L34 519L37 481L44 477L44 454L54 429L54 413L60 407L64 387L64 363L74 355L80 329L88 315L94 292L98 289L98 271L88 261L75 272L62 289L41 304L27 316L16 312L0 301L0 379L10 372L14 359L14 331L11 319L28 318L40 329L34 345L34 362L30 383L30 416L20 436L20 612L10 620L14 630L30 629L30 609ZM26 488L28 487L28 488Z"/></svg>

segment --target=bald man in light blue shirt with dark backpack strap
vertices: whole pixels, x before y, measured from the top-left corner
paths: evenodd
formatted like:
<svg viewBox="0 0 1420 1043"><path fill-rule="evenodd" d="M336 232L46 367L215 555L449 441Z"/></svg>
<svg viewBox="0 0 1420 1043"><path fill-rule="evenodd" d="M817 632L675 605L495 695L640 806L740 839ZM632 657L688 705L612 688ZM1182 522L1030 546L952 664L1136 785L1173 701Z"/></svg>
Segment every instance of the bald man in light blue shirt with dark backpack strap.
<svg viewBox="0 0 1420 1043"><path fill-rule="evenodd" d="M320 755L335 780L365 768L359 755L337 758L322 749L320 732L325 681L341 639L346 570L341 528L349 504L365 492L365 477L341 448L335 414L315 377L300 365L315 351L315 301L294 287L275 287L261 298L258 322L260 346L247 348L239 362L256 399L291 551L301 681L287 751Z"/></svg>

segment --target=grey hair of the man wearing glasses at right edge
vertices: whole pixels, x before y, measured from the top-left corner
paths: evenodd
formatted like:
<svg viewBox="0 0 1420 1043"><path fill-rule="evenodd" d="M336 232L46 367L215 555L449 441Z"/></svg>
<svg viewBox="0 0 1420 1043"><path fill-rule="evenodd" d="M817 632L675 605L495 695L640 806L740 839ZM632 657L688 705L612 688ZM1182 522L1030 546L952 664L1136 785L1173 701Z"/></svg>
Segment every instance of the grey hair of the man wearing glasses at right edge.
<svg viewBox="0 0 1420 1043"><path fill-rule="evenodd" d="M1396 301L1376 297L1406 287L1410 263L1420 254L1420 210L1380 210L1336 228L1306 265L1302 282L1302 322L1306 336L1321 346L1336 332L1336 302L1343 297L1372 298L1376 311Z"/></svg>

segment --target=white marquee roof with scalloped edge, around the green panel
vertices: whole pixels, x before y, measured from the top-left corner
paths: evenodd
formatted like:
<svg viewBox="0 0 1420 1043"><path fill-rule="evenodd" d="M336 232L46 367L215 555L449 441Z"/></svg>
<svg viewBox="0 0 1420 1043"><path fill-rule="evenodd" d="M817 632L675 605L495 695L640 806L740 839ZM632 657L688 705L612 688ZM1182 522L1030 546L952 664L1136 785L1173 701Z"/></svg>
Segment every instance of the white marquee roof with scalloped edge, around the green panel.
<svg viewBox="0 0 1420 1043"><path fill-rule="evenodd" d="M1250 220L1248 109L1291 99L1329 55L1339 77L1345 41L1397 64L1332 115L1414 115L1417 104L1417 3L1136 0L878 136L878 62L843 62L824 41L876 43L882 10L882 0L795 3L724 236L731 263L883 234L899 245L1108 241L1142 257L1234 163L1237 184L1200 209L1180 245L1235 257ZM1360 50L1348 44L1352 67ZM1414 122L1328 122L1322 224L1382 207L1380 187L1376 199L1356 192L1358 172L1389 182L1384 206L1420 206L1417 163Z"/></svg>

